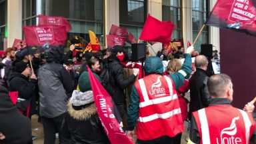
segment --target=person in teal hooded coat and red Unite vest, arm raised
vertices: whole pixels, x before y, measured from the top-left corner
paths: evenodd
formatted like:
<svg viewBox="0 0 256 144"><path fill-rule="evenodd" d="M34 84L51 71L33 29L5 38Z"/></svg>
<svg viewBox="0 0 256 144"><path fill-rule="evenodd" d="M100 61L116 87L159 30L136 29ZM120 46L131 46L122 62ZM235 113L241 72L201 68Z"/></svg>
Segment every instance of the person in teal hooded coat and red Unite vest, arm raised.
<svg viewBox="0 0 256 144"><path fill-rule="evenodd" d="M183 131L183 120L175 89L179 89L191 73L191 53L187 48L181 70L163 75L163 63L159 57L147 57L146 77L133 85L128 107L128 137L134 138L137 123L137 143L173 143L173 138Z"/></svg>

